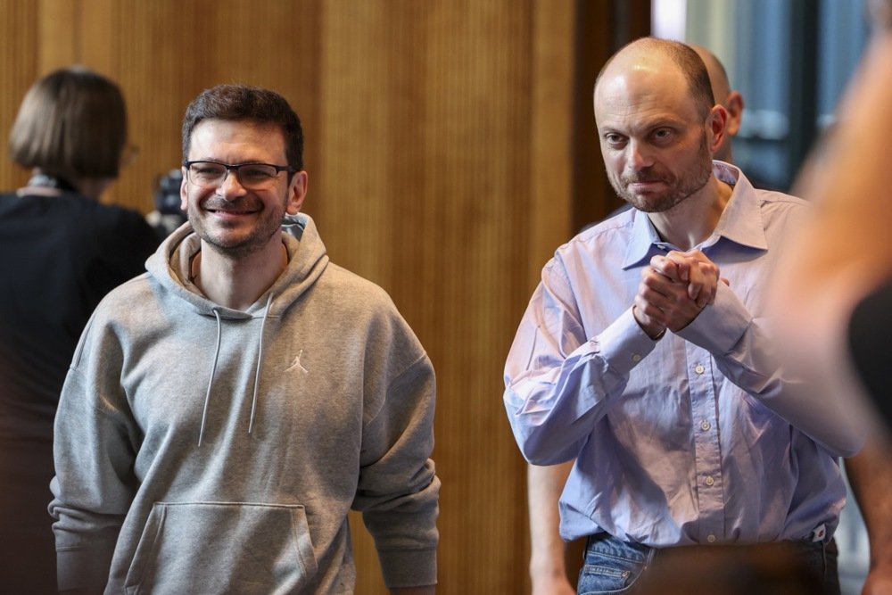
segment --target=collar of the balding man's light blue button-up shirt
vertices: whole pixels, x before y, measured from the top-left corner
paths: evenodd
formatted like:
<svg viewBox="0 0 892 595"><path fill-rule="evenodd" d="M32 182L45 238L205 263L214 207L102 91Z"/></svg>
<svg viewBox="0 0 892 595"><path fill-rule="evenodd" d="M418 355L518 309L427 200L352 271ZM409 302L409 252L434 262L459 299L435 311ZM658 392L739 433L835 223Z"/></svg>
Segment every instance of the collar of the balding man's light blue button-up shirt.
<svg viewBox="0 0 892 595"><path fill-rule="evenodd" d="M731 186L731 199L725 205L713 234L700 245L715 244L719 238L725 238L736 244L767 250L762 211L753 185L739 168L723 161L713 161L713 174ZM671 250L673 246L660 239L647 213L634 211L632 241L626 249L623 268L634 267L649 260L651 254L665 252L667 248Z"/></svg>

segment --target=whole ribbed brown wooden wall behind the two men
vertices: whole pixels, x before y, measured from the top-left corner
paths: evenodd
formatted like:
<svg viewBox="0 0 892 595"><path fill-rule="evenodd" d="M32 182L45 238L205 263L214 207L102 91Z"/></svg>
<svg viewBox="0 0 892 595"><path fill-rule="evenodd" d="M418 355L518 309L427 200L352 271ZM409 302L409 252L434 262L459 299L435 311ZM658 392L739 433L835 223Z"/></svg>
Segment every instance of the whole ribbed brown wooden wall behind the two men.
<svg viewBox="0 0 892 595"><path fill-rule="evenodd" d="M72 62L117 80L141 151L104 197L147 212L202 88L245 82L301 115L308 211L335 262L384 286L438 375L441 593L528 591L525 467L502 367L571 234L574 0L0 0L0 124ZM591 94L591 88L584 91ZM5 143L3 144L5 151ZM5 153L3 153L5 156ZM0 184L23 174L0 162ZM384 593L368 536L361 593Z"/></svg>

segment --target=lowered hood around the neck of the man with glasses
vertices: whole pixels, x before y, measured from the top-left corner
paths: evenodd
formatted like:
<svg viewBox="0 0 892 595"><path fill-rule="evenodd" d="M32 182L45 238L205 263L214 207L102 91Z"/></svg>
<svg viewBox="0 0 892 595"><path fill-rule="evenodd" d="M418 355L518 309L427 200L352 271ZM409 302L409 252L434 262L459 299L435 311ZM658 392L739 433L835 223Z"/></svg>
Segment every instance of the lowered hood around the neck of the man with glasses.
<svg viewBox="0 0 892 595"><path fill-rule="evenodd" d="M288 266L248 310L232 310L211 302L189 280L191 262L201 251L202 241L186 222L174 230L145 262L149 275L161 286L190 304L203 316L244 319L259 316L277 318L312 286L328 265L326 246L309 215L298 213L282 221L282 243L288 252ZM268 313L266 312L268 308Z"/></svg>

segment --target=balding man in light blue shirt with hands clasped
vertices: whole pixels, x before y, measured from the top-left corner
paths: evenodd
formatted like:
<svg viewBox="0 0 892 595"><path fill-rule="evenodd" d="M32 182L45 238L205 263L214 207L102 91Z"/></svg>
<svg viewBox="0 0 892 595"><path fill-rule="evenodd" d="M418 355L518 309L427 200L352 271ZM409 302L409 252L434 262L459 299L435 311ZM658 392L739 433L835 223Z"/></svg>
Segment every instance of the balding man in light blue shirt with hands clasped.
<svg viewBox="0 0 892 595"><path fill-rule="evenodd" d="M579 591L632 589L665 548L776 543L838 592L837 457L861 427L789 390L763 320L805 203L712 161L727 112L686 45L625 46L594 105L608 178L635 208L546 265L504 396L529 462L576 459L561 534L588 538Z"/></svg>

